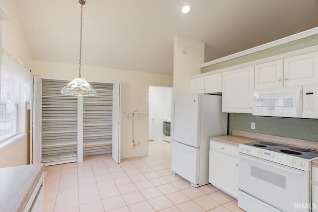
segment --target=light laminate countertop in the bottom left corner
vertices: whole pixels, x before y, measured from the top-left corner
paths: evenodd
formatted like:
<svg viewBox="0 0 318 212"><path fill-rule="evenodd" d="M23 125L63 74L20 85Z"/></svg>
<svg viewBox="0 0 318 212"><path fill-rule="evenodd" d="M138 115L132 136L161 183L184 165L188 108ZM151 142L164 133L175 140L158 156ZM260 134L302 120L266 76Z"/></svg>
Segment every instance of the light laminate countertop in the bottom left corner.
<svg viewBox="0 0 318 212"><path fill-rule="evenodd" d="M0 168L0 211L22 212L44 171L44 164Z"/></svg>

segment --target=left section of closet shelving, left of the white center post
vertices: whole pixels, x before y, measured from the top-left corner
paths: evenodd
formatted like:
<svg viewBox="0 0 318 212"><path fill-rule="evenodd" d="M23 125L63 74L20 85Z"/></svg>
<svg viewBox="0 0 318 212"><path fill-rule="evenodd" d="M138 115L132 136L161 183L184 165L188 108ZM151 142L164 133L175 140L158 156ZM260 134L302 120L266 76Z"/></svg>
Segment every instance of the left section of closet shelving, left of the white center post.
<svg viewBox="0 0 318 212"><path fill-rule="evenodd" d="M77 97L60 93L67 81L42 80L42 162L77 161Z"/></svg>

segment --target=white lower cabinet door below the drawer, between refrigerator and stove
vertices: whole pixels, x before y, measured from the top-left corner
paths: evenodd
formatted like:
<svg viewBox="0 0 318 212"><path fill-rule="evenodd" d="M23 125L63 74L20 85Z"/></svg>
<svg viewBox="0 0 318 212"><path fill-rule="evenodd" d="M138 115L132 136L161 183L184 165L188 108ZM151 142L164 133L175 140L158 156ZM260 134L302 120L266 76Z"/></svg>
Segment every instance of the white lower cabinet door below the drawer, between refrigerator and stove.
<svg viewBox="0 0 318 212"><path fill-rule="evenodd" d="M213 186L237 198L238 158L214 150L210 150L209 154L209 182Z"/></svg>

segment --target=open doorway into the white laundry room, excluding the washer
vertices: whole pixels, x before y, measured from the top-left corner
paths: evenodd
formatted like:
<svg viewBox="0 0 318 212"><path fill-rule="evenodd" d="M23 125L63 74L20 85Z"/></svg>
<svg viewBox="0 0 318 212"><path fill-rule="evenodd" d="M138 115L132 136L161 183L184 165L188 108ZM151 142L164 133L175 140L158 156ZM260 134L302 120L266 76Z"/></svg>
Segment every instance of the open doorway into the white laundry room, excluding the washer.
<svg viewBox="0 0 318 212"><path fill-rule="evenodd" d="M170 141L164 136L163 122L171 118L171 102L172 87L149 86L148 141Z"/></svg>

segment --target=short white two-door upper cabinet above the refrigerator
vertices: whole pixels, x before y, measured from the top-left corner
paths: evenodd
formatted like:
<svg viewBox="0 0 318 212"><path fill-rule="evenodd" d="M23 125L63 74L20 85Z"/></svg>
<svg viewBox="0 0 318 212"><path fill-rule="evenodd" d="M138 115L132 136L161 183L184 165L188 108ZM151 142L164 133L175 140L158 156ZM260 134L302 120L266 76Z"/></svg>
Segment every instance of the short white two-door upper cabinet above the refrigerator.
<svg viewBox="0 0 318 212"><path fill-rule="evenodd" d="M221 93L222 73L190 79L191 93Z"/></svg>

